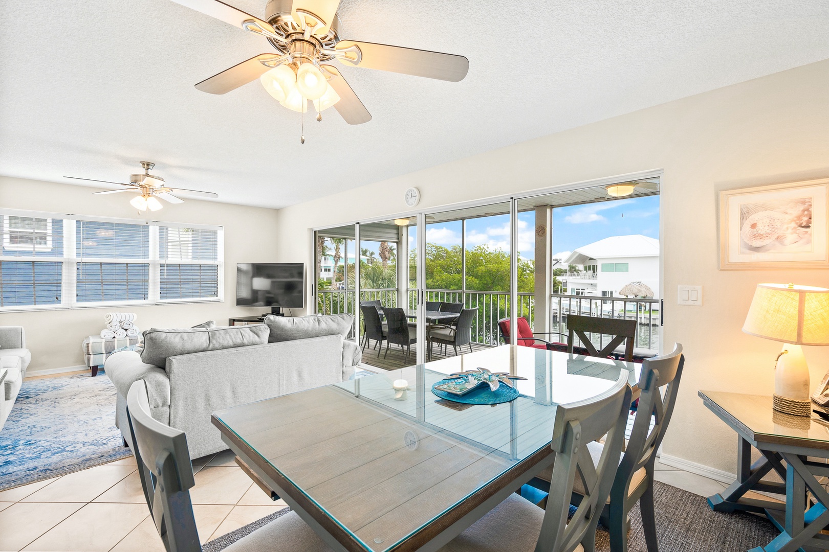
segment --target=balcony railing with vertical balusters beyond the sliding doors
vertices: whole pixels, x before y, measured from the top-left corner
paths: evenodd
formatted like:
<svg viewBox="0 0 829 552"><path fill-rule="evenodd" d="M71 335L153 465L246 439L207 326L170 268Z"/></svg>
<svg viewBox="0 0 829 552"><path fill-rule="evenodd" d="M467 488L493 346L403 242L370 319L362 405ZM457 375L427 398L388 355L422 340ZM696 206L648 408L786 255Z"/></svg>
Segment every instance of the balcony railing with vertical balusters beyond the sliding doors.
<svg viewBox="0 0 829 552"><path fill-rule="evenodd" d="M414 309L417 301L415 290L408 290L405 307ZM361 290L360 300L380 300L382 305L397 306L396 289ZM474 343L497 345L501 343L498 320L507 318L510 311L510 294L507 291L474 290L426 290L426 300L463 302L467 308L478 308L473 320ZM535 324L535 294L518 294L518 315L526 318L531 327ZM317 312L320 314L354 313L354 290L318 290ZM566 334L568 314L581 314L600 318L637 320L635 348L656 350L659 344L660 312L657 299L626 299L623 297L597 297L594 295L550 296L550 331ZM553 341L564 340L556 336ZM602 347L608 336L591 335L590 340Z"/></svg>

